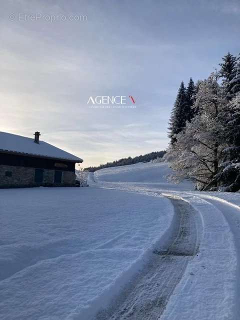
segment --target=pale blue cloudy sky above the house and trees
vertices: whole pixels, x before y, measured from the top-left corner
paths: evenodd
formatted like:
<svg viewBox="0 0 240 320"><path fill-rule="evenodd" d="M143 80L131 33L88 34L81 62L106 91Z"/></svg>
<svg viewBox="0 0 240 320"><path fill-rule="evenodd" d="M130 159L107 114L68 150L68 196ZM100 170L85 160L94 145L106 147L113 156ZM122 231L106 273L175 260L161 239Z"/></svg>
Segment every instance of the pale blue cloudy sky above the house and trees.
<svg viewBox="0 0 240 320"><path fill-rule="evenodd" d="M180 81L205 78L227 51L240 52L239 1L0 4L0 130L39 130L85 166L166 148ZM18 13L87 20L19 21ZM132 95L136 108L90 109L90 95Z"/></svg>

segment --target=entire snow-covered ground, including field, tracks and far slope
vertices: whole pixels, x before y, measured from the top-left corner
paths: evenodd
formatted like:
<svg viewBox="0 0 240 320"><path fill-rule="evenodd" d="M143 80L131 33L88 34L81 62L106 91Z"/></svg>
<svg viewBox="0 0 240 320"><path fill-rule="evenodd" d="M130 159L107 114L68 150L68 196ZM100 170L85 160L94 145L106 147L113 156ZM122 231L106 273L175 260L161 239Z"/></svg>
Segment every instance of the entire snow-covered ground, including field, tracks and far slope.
<svg viewBox="0 0 240 320"><path fill-rule="evenodd" d="M166 163L0 190L0 319L238 319L240 195Z"/></svg>

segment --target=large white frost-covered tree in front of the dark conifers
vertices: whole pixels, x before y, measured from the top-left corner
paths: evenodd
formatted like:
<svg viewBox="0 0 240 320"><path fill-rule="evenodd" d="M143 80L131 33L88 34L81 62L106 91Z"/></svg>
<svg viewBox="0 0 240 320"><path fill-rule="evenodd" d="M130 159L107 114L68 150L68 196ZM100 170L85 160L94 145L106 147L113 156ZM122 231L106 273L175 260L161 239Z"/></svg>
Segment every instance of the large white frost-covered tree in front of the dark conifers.
<svg viewBox="0 0 240 320"><path fill-rule="evenodd" d="M208 189L209 183L218 173L222 149L222 127L218 114L227 103L222 87L217 83L218 74L212 73L199 84L194 107L198 114L186 123L170 147L174 170L171 178L179 181L188 178L196 183L197 189ZM209 185L216 187L217 182Z"/></svg>

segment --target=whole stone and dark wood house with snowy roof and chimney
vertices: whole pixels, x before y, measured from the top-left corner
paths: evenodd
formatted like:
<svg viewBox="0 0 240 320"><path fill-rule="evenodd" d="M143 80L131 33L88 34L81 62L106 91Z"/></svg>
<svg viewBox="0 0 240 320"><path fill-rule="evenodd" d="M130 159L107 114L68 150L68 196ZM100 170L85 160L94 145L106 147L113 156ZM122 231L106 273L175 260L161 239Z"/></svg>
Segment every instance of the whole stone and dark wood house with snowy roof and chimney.
<svg viewBox="0 0 240 320"><path fill-rule="evenodd" d="M0 132L0 187L73 186L83 160L34 138Z"/></svg>

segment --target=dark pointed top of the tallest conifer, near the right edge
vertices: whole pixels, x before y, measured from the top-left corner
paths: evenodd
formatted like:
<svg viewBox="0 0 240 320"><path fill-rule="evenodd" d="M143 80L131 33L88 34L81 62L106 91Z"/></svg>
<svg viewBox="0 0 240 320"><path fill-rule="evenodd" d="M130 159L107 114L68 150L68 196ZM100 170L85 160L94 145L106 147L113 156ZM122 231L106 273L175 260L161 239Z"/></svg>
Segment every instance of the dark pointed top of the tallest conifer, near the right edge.
<svg viewBox="0 0 240 320"><path fill-rule="evenodd" d="M226 92L228 100L230 100L232 97L231 80L234 77L233 70L235 66L236 57L233 56L230 52L228 52L226 55L223 56L222 60L223 62L219 63L219 65L221 66L219 75L223 78L223 88Z"/></svg>

